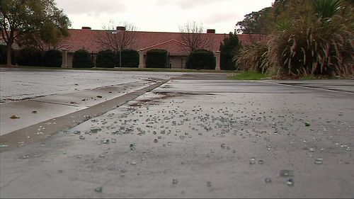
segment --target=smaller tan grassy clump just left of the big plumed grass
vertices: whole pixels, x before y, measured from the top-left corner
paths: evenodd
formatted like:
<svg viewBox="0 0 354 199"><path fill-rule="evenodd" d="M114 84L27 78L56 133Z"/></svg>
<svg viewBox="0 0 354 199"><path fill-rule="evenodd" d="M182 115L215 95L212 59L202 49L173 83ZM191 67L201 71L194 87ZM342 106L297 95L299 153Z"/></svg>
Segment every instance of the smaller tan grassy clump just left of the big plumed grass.
<svg viewBox="0 0 354 199"><path fill-rule="evenodd" d="M254 42L241 48L234 57L237 69L248 72L267 72L269 68L268 45Z"/></svg>

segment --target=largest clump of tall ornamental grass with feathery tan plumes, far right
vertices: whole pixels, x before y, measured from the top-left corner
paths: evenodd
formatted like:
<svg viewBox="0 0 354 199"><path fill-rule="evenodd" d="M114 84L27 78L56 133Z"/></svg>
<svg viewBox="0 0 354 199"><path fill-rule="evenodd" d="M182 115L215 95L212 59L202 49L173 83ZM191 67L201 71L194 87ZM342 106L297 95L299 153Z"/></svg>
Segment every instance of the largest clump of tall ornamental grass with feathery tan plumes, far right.
<svg viewBox="0 0 354 199"><path fill-rule="evenodd" d="M353 76L353 27L340 16L326 21L299 19L275 30L268 41L273 71L290 76Z"/></svg>

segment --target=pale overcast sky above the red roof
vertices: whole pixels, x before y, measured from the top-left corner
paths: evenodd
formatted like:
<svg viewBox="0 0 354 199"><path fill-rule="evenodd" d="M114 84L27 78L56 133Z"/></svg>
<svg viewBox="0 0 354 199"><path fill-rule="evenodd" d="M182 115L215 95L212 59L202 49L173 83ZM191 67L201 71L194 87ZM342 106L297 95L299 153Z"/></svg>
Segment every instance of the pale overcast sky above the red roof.
<svg viewBox="0 0 354 199"><path fill-rule="evenodd" d="M132 23L140 31L179 32L179 26L196 21L217 33L234 31L237 21L274 0L56 0L72 21L72 28L100 30L113 20Z"/></svg>

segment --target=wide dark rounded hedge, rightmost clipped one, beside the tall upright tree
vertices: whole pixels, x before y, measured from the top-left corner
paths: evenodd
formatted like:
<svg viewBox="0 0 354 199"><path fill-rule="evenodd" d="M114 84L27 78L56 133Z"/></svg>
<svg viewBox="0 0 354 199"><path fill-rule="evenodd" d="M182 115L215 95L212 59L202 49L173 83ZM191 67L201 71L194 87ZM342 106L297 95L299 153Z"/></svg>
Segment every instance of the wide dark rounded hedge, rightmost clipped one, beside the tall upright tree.
<svg viewBox="0 0 354 199"><path fill-rule="evenodd" d="M215 69L215 56L209 50L194 50L187 59L186 67L188 69Z"/></svg>

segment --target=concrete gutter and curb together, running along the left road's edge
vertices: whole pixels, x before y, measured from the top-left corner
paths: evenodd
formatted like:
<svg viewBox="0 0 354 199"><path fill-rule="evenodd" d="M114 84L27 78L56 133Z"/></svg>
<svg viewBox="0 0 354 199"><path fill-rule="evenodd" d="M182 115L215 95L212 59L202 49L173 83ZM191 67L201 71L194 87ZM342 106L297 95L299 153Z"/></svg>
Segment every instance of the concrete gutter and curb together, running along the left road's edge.
<svg viewBox="0 0 354 199"><path fill-rule="evenodd" d="M60 130L72 128L90 118L103 115L161 86L166 81L153 81L156 82L154 84L144 82L143 85L139 85L142 84L139 82L135 85L110 86L62 96L47 96L1 104L0 146L3 147L0 148L0 152L39 142ZM99 95L95 96L95 94ZM18 113L17 119L8 117L13 113Z"/></svg>

